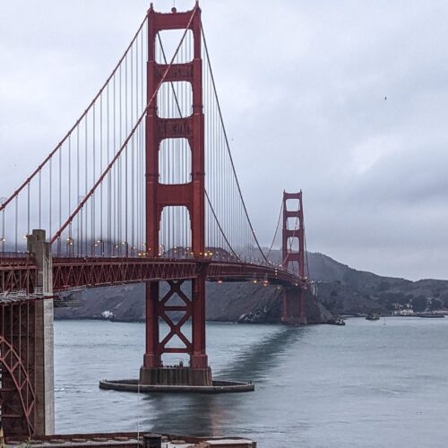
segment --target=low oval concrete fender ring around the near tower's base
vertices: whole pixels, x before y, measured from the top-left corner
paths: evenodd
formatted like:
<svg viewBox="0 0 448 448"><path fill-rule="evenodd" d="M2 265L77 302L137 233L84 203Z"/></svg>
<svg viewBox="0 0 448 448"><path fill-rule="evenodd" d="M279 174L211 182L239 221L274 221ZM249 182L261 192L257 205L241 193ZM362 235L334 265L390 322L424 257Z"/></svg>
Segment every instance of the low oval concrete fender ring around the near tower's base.
<svg viewBox="0 0 448 448"><path fill-rule="evenodd" d="M168 393L237 393L253 392L253 383L213 380L211 385L191 384L144 384L138 380L103 380L100 389L122 392L168 392Z"/></svg>

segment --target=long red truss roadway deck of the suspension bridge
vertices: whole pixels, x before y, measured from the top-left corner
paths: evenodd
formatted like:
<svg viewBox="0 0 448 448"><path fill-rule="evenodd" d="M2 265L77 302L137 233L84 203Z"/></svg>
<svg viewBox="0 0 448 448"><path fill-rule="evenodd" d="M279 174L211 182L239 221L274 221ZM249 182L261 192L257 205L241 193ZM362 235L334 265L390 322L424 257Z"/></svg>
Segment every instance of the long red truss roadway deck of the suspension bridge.
<svg viewBox="0 0 448 448"><path fill-rule="evenodd" d="M207 270L211 281L269 281L301 286L303 281L291 271L274 265L236 263L203 259L144 257L54 257L54 292L76 288L96 288L151 280L190 280ZM37 267L31 256L0 257L0 293L33 291Z"/></svg>

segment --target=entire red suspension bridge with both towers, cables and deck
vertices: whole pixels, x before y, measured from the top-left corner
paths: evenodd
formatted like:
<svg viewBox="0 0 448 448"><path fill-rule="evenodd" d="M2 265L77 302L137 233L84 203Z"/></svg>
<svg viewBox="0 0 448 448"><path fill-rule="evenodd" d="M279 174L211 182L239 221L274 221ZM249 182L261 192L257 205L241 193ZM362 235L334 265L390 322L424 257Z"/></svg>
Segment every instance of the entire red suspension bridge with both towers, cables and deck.
<svg viewBox="0 0 448 448"><path fill-rule="evenodd" d="M143 384L211 385L207 280L282 285L283 322L306 323L301 193L283 195L279 224L282 260L274 263L238 183L199 5L185 13L151 5L72 129L0 199L5 431L52 432L57 293L145 282ZM163 337L159 322L168 326ZM186 354L189 365L164 366L167 353Z"/></svg>

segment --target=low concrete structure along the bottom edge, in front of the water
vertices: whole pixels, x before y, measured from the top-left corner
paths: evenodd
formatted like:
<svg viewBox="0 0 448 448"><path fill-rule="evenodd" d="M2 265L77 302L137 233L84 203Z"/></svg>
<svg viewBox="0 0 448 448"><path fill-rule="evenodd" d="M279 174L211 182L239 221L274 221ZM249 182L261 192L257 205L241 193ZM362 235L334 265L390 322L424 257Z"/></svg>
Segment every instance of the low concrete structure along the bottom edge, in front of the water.
<svg viewBox="0 0 448 448"><path fill-rule="evenodd" d="M36 448L52 446L54 448L74 448L82 446L109 446L127 448L256 448L254 441L240 437L189 437L184 435L159 435L151 433L113 433L113 434L76 434L49 435L32 440L9 438L6 446L29 446ZM3 445L2 445L3 446Z"/></svg>

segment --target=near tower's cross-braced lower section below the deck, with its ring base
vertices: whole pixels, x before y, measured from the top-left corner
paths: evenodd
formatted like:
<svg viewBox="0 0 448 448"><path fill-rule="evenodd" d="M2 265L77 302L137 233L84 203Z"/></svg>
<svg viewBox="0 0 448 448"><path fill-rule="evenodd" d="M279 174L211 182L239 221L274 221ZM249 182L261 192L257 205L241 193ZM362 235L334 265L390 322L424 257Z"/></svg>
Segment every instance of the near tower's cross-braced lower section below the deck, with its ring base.
<svg viewBox="0 0 448 448"><path fill-rule="evenodd" d="M136 380L103 380L101 389L125 392L252 392L253 383L213 381L205 349L205 279L208 262L197 263L196 277L168 280L168 292L160 295L160 281L146 283L146 352ZM183 288L184 286L184 288ZM186 291L190 287L190 296ZM183 326L191 321L191 335ZM168 334L160 340L160 322ZM179 342L184 347L179 347ZM174 344L177 343L176 346ZM164 366L163 354L186 354L188 366Z"/></svg>

